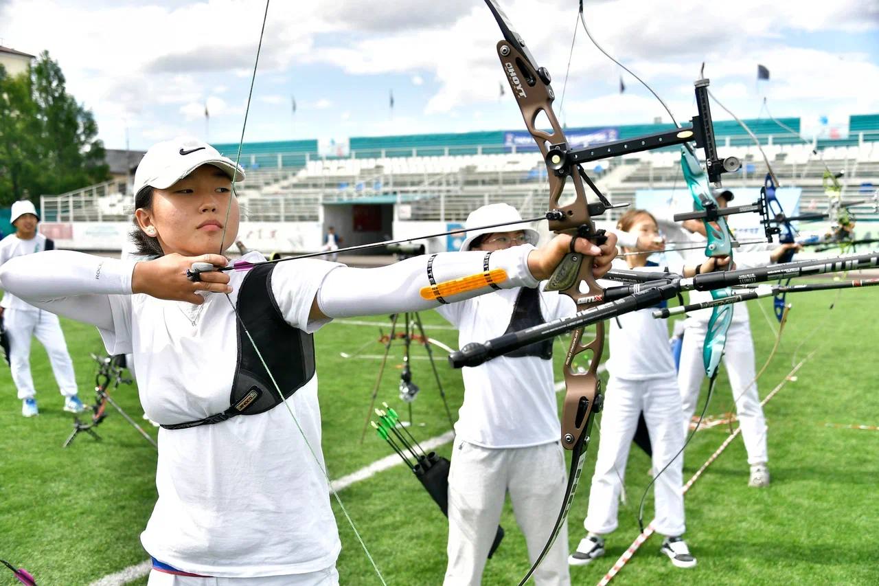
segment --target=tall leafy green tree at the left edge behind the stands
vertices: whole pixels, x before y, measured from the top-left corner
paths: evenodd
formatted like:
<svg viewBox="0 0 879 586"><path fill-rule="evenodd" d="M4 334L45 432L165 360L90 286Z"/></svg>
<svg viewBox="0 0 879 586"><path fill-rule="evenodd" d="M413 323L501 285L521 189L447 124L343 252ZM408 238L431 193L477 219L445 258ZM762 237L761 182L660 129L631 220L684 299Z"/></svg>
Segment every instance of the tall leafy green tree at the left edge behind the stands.
<svg viewBox="0 0 879 586"><path fill-rule="evenodd" d="M0 204L109 179L97 136L94 116L67 92L47 51L29 76L10 77L0 68Z"/></svg>

